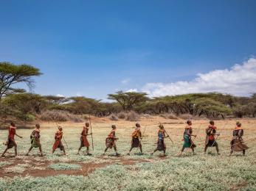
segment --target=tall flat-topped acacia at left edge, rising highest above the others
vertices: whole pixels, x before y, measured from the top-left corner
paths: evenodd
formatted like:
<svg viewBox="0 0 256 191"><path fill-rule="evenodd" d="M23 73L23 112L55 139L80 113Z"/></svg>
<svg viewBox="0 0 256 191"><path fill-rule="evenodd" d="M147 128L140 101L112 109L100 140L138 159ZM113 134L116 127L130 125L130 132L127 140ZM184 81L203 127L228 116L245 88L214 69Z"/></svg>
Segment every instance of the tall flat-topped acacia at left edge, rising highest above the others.
<svg viewBox="0 0 256 191"><path fill-rule="evenodd" d="M15 65L10 62L0 62L0 104L1 98L5 95L25 91L13 87L14 84L24 83L31 89L34 86L32 77L40 76L41 74L40 70L32 65Z"/></svg>

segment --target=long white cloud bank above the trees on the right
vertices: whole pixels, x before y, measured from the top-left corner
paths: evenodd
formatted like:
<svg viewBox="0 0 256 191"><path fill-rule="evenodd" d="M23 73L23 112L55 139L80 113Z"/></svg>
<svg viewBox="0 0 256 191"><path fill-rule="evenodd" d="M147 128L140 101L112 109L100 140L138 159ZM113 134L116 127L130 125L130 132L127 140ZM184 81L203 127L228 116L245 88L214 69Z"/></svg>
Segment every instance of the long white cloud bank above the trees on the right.
<svg viewBox="0 0 256 191"><path fill-rule="evenodd" d="M250 58L241 65L232 68L198 73L192 81L171 83L148 83L142 91L151 97L179 95L184 93L231 93L249 95L256 91L256 59Z"/></svg>

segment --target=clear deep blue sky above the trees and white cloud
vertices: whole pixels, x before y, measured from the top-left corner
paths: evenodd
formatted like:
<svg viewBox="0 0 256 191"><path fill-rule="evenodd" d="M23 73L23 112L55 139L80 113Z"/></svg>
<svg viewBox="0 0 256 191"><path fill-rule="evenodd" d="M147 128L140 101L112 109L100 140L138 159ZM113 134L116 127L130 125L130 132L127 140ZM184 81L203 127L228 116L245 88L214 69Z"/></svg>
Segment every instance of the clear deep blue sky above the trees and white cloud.
<svg viewBox="0 0 256 191"><path fill-rule="evenodd" d="M105 99L149 83L190 82L256 55L255 7L253 0L0 0L0 61L40 68L34 91L44 95Z"/></svg>

